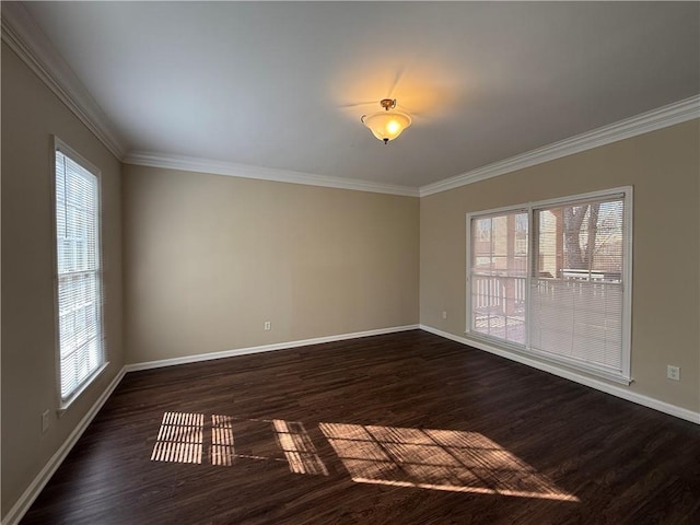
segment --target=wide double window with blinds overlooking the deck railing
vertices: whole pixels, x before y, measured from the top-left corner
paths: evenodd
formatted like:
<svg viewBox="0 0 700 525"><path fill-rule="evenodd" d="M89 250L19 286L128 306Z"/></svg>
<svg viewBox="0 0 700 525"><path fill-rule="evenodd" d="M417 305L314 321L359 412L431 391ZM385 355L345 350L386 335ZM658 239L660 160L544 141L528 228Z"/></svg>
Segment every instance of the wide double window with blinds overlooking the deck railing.
<svg viewBox="0 0 700 525"><path fill-rule="evenodd" d="M467 331L629 383L630 217L631 188L469 214Z"/></svg>

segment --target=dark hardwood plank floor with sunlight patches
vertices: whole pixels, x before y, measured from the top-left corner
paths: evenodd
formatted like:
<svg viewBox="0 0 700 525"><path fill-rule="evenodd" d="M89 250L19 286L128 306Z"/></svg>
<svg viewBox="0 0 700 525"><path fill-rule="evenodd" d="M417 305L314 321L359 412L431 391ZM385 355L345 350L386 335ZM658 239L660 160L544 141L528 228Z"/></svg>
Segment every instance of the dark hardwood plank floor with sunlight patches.
<svg viewBox="0 0 700 525"><path fill-rule="evenodd" d="M700 428L415 330L129 373L22 523L698 524Z"/></svg>

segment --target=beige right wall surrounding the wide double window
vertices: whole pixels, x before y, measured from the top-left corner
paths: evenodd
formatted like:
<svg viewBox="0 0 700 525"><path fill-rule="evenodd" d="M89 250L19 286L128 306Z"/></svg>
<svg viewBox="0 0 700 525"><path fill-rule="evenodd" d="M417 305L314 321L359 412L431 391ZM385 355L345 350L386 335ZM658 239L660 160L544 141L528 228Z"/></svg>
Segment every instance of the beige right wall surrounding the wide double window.
<svg viewBox="0 0 700 525"><path fill-rule="evenodd" d="M700 411L698 124L422 198L421 324L464 336L467 212L631 185L634 382L629 388ZM680 382L666 378L666 364L681 368Z"/></svg>

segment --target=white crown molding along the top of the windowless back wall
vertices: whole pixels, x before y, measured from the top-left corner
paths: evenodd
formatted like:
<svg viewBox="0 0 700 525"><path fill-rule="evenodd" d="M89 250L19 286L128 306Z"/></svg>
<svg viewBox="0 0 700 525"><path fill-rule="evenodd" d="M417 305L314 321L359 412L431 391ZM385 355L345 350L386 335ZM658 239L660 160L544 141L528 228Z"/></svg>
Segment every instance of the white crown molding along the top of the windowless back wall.
<svg viewBox="0 0 700 525"><path fill-rule="evenodd" d="M270 167L250 166L233 162L212 161L196 156L167 155L156 152L129 152L124 159L127 164L139 166L164 167L167 170L180 170L184 172L211 173L230 177L256 178L259 180L273 180L277 183L304 184L307 186L323 186L327 188L353 189L358 191L371 191L374 194L400 195L418 197L418 188L398 186L392 184L372 183L350 178L329 177L308 173L292 172L289 170L275 170Z"/></svg>

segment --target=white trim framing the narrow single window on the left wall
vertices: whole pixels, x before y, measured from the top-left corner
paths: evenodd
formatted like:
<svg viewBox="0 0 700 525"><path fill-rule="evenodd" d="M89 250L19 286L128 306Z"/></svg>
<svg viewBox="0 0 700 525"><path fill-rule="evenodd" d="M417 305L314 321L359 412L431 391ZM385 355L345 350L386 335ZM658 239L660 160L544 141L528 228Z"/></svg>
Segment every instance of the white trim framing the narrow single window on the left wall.
<svg viewBox="0 0 700 525"><path fill-rule="evenodd" d="M107 360L107 343L106 343L106 334L105 334L105 313L104 313L104 257L103 257L103 243L102 243L102 171L88 161L83 155L78 153L74 149L68 145L66 142L60 140L58 137L52 136L51 148L50 148L50 179L51 179L51 254L52 254L52 262L54 262L54 355L56 358L55 365L55 374L56 374L56 398L57 398L57 413L58 416L62 416L66 410L82 394L85 392L92 384L94 384L95 380L100 377L104 371L109 366L109 361ZM73 161L79 163L82 167L92 173L98 180L98 214L100 214L100 228L97 230L97 247L98 247L98 257L100 257L100 298L102 301L102 307L100 308L101 314L101 323L102 323L102 351L103 351L103 361L102 364L93 371L93 373L78 387L75 390L71 393L71 395L63 399L61 395L61 354L60 354L60 334L59 334L59 322L58 322L58 247L56 244L57 240L57 223L56 223L56 151L61 151L67 156L71 158Z"/></svg>

